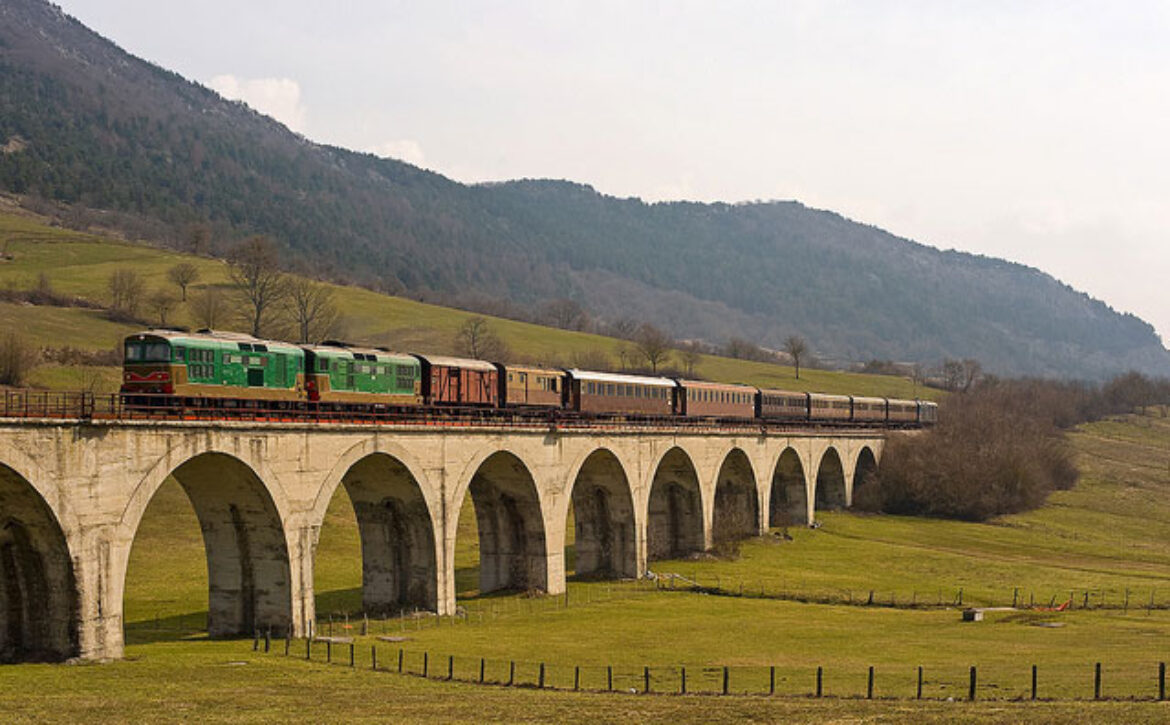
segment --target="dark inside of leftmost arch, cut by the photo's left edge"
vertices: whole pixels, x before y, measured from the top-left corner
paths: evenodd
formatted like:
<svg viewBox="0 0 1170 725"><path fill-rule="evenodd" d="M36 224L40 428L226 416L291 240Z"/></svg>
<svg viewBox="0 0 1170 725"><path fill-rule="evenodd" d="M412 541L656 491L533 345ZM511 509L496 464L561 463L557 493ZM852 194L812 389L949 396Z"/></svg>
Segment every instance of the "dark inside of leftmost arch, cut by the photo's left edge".
<svg viewBox="0 0 1170 725"><path fill-rule="evenodd" d="M0 464L0 662L77 656L78 607L57 518L23 476Z"/></svg>

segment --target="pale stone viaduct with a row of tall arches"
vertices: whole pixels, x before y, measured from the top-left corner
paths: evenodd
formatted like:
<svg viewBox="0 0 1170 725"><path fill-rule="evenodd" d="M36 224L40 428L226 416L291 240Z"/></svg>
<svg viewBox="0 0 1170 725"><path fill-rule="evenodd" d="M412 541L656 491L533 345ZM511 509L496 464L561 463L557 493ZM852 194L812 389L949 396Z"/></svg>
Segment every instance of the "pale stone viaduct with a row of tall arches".
<svg viewBox="0 0 1170 725"><path fill-rule="evenodd" d="M455 610L470 493L480 588L564 591L848 506L874 430L0 420L0 661L119 657L130 550L173 476L202 530L213 636L309 631L325 510L345 486L367 610Z"/></svg>

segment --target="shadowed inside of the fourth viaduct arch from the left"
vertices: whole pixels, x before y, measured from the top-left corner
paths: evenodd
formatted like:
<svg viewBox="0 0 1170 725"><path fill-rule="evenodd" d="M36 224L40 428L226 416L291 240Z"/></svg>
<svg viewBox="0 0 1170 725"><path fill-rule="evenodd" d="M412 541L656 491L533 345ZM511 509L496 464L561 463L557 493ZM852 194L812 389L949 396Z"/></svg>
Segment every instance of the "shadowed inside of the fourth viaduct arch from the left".
<svg viewBox="0 0 1170 725"><path fill-rule="evenodd" d="M498 450L475 468L467 485L480 531L480 592L549 588L541 496L516 454ZM462 500L456 498L456 500ZM455 518L452 522L457 522Z"/></svg>

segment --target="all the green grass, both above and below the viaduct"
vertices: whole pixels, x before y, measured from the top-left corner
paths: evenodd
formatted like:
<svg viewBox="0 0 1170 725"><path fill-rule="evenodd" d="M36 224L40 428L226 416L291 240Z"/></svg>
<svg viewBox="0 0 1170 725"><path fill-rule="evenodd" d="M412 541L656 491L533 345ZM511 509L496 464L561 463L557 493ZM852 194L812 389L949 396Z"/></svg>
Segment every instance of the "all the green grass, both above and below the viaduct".
<svg viewBox="0 0 1170 725"><path fill-rule="evenodd" d="M132 263L160 281L179 258L0 215L0 242L5 241L16 258L0 263L0 285L27 286L47 270L58 290L95 297L113 264ZM207 282L222 279L218 263L199 263ZM365 331L365 339L377 341L390 341L379 334L399 336L419 345L433 340L442 348L463 319L462 312L363 290L343 288L338 295L347 306L363 310L351 324ZM78 309L7 305L0 313L6 325L19 325L43 344L60 345L76 331L70 344L101 348L125 331ZM507 320L496 324L514 350L534 355L566 355L614 344ZM778 366L708 358L701 372L794 386L791 371ZM44 366L36 380L63 388L88 374ZM776 375L776 381L765 382L768 375ZM801 375L801 384L886 394L906 394L899 386L909 386L889 378L812 372ZM126 660L4 668L4 720L1164 721L1170 717L1164 704L1121 700L1152 697L1157 663L1168 658L1170 610L1162 607L1170 606L1170 420L1154 414L1102 421L1081 427L1072 441L1083 471L1081 482L1030 513L987 524L823 513L820 529L793 529L790 539L772 532L744 541L735 557L652 564L655 572L717 582L728 592L742 586L745 593L763 589L770 595L854 602L874 592L878 603L893 600L897 607L584 581L570 582L567 607L564 598L479 596L475 520L467 502L461 510L456 579L468 616L438 626L433 617L376 622L371 636L359 637L359 664L365 667L369 645L377 642L387 658L402 647L407 667L414 670L424 652L443 670L446 657L455 656L460 677L474 676L484 657L489 679L503 678L508 661L516 661L518 678L534 682L543 662L548 683L564 686L571 684L572 668L581 667L583 684L590 689L604 686L604 667L612 665L621 688L640 689L641 668L651 667L654 689L674 690L680 668L686 667L691 691L718 690L720 668L727 665L732 668L732 692L762 692L768 688L768 668L776 667L777 692L787 696L777 698L481 688L255 655L250 642L206 641L190 634L202 627L207 609L201 533L190 503L172 482L151 502L131 553ZM356 522L339 490L317 551L318 614L357 613L360 579ZM982 623L964 624L955 608L907 607L954 601L961 589L964 603L1002 606L1017 593L1023 601L1072 599L1080 606L1088 593L1090 605L1108 608L989 613ZM1128 610L1119 608L1127 592ZM1159 608L1147 610L1151 596ZM383 633L408 640L390 644L373 638ZM1117 700L1010 702L1027 693L1032 664L1040 668L1042 698L1092 697L1096 662L1103 667L1103 695ZM979 698L996 702L945 702L964 698L971 665L979 668ZM821 700L807 697L817 667L825 668L825 691L832 696ZM887 699L858 699L866 689L868 667L875 668L875 695ZM924 695L935 699L893 699L914 695L917 667L925 668Z"/></svg>

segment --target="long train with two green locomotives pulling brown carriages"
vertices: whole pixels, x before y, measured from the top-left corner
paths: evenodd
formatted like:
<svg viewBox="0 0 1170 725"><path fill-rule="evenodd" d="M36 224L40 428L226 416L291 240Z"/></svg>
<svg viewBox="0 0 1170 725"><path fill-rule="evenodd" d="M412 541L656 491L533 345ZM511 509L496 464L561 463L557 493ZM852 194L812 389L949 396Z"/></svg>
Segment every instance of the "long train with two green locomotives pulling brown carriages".
<svg viewBox="0 0 1170 725"><path fill-rule="evenodd" d="M931 401L762 389L681 378L397 353L335 340L294 345L236 332L126 337L125 406L310 413L474 413L599 420L924 427Z"/></svg>

